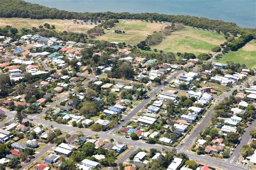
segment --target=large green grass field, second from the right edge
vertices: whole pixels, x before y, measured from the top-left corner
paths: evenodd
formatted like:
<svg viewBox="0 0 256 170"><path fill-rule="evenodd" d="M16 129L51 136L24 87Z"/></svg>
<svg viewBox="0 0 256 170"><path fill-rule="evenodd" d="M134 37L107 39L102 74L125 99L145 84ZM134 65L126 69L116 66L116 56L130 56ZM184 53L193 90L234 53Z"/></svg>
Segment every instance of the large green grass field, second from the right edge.
<svg viewBox="0 0 256 170"><path fill-rule="evenodd" d="M224 35L211 31L193 29L186 26L185 29L173 32L166 36L162 43L152 46L152 49L164 52L192 52L194 54L211 52L211 49L225 41Z"/></svg>

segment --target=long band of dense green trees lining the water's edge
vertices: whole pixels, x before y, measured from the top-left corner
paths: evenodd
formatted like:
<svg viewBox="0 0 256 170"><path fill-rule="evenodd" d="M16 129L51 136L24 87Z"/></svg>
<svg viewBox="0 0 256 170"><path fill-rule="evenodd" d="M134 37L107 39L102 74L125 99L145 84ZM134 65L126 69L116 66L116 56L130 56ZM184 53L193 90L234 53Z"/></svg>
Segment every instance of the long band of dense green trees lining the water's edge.
<svg viewBox="0 0 256 170"><path fill-rule="evenodd" d="M38 4L31 4L22 0L0 0L0 17L21 17L32 19L143 19L147 21L183 23L188 26L194 26L201 29L210 29L221 32L241 33L244 30L251 31L254 38L256 29L242 29L235 23L212 20L202 17L184 16L184 15L165 15L159 13L114 13L114 12L96 12L79 13L48 8Z"/></svg>

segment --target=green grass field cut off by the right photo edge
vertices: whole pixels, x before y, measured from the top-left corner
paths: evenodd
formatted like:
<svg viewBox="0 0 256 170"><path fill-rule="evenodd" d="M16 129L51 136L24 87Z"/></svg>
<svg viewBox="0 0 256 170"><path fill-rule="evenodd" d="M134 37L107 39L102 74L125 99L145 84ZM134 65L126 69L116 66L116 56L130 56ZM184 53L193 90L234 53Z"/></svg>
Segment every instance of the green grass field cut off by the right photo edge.
<svg viewBox="0 0 256 170"><path fill-rule="evenodd" d="M219 63L226 63L232 61L235 63L245 64L248 68L256 68L256 43L254 40L247 43L238 51L230 51L223 55L220 59L215 60Z"/></svg>

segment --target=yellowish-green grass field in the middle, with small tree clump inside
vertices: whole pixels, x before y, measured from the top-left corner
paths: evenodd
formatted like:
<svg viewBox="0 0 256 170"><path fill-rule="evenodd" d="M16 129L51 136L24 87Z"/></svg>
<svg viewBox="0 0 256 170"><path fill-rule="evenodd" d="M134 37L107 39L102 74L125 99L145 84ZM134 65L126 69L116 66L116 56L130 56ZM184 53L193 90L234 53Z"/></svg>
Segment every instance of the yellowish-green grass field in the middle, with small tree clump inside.
<svg viewBox="0 0 256 170"><path fill-rule="evenodd" d="M163 25L165 24L120 20L114 28L105 30L106 34L97 37L97 39L137 45L142 40L145 40L147 35L151 35L154 31L160 31ZM125 31L125 34L113 33L114 30Z"/></svg>

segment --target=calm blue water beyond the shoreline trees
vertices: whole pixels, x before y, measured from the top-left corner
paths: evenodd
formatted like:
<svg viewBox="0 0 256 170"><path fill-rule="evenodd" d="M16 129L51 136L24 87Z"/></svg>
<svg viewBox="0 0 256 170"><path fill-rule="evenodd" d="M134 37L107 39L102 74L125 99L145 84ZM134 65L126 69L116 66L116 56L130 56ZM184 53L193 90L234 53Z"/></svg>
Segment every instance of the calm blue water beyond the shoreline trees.
<svg viewBox="0 0 256 170"><path fill-rule="evenodd" d="M25 0L76 12L158 12L191 15L256 28L256 0Z"/></svg>

